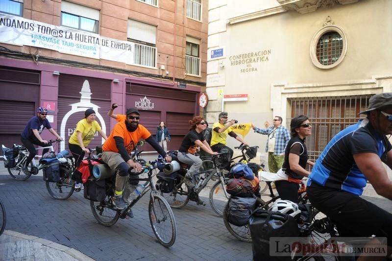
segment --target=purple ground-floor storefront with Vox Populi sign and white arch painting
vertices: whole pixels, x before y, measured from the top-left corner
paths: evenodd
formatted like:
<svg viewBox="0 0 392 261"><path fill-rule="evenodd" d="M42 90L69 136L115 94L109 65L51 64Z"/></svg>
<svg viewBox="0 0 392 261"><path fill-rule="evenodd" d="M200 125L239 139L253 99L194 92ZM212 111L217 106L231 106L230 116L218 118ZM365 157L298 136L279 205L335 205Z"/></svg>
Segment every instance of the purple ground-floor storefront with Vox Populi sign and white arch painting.
<svg viewBox="0 0 392 261"><path fill-rule="evenodd" d="M0 64L0 144L7 147L21 144L20 133L26 122L36 115L37 107L44 105L49 110L50 124L65 140L61 149L68 149L69 137L88 108L96 111L97 121L107 136L116 124L116 120L107 116L112 103L119 104L116 114L123 114L129 107L138 108L140 123L154 137L159 122L165 121L172 136L168 149L178 149L189 131L188 120L200 113L197 104L200 86L179 89L177 82L23 60L1 58ZM42 135L53 138L47 130ZM97 135L91 147L101 143ZM147 145L143 150L153 149Z"/></svg>

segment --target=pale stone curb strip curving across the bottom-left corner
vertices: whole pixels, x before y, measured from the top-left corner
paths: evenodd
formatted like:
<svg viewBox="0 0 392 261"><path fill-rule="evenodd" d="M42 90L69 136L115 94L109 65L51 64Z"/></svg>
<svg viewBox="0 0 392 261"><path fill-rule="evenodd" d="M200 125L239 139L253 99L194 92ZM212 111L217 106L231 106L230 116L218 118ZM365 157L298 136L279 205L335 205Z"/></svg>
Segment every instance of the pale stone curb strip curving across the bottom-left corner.
<svg viewBox="0 0 392 261"><path fill-rule="evenodd" d="M76 249L49 241L44 238L39 238L39 237L35 237L35 236L28 236L28 235L25 235L25 234L22 234L19 232L15 232L15 231L10 231L10 230L4 230L3 234L10 236L10 237L17 237L20 239L24 239L24 240L28 240L28 241L42 244L44 246L53 248L55 250L64 252L64 253L70 255L71 257L73 257L74 259L77 259L80 261L95 261L94 259L90 258L89 256L86 256L85 254L81 253L80 251L77 251Z"/></svg>

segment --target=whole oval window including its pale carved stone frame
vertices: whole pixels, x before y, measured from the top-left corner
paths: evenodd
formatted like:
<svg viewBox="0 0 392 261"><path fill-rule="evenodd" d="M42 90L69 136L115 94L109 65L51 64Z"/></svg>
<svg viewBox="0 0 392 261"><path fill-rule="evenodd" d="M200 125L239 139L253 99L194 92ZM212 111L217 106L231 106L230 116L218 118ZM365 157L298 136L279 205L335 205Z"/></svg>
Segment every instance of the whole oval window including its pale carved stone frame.
<svg viewBox="0 0 392 261"><path fill-rule="evenodd" d="M347 52L347 38L342 28L326 25L319 29L310 44L310 56L319 69L328 70L338 66Z"/></svg>

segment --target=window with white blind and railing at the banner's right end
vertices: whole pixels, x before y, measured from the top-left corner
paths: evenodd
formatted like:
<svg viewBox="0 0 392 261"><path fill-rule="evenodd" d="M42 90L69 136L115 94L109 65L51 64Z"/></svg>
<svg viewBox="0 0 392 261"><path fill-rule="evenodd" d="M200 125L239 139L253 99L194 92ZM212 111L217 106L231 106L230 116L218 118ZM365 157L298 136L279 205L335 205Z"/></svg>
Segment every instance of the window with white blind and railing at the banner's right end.
<svg viewBox="0 0 392 261"><path fill-rule="evenodd" d="M128 41L135 43L133 64L156 67L156 26L128 20Z"/></svg>

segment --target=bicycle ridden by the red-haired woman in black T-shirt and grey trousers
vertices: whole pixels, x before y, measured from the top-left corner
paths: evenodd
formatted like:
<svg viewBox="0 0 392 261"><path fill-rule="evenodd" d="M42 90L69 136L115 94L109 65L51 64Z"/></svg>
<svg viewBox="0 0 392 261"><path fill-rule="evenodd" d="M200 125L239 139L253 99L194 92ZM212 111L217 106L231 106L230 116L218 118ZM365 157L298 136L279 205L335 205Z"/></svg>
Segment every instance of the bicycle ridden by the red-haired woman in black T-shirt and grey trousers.
<svg viewBox="0 0 392 261"><path fill-rule="evenodd" d="M217 176L219 180L212 186L208 198L211 208L221 216L221 201L227 201L229 198L229 194L225 190L227 178L220 168L221 155L225 155L225 153L212 155L211 160L204 160L202 162L202 171L193 176L193 182L196 186L192 190L189 190L183 182L188 171L188 165L185 164L181 165L181 169L175 172L175 177L173 178L157 176L159 180L157 182L157 189L172 208L181 209L188 204L189 200L195 201L197 205L205 206L205 202L199 198L199 193L207 186L213 176ZM171 180L168 180L168 178ZM223 193L214 191L222 191Z"/></svg>

